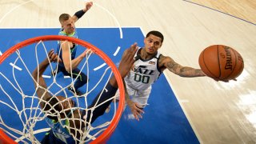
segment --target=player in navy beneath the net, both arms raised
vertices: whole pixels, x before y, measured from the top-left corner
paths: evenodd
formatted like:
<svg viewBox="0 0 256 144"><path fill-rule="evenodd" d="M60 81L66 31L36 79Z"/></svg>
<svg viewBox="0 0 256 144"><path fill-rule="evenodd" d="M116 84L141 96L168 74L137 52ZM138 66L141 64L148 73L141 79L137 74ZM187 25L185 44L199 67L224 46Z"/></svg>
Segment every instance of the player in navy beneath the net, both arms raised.
<svg viewBox="0 0 256 144"><path fill-rule="evenodd" d="M134 54L137 49L137 44L134 43L134 45L130 46L130 48L125 50L123 53L118 66L118 71L122 78L126 77L133 66L135 61ZM42 74L46 70L47 66L50 65L50 62L55 62L58 59L58 54L54 54L54 50L50 50L48 57L50 61L46 58L34 69L32 74L35 80L34 86L37 90L36 93L38 94L38 98L41 100L39 105L46 114L46 122L51 128L42 139L42 143L72 144L76 142L72 135L75 135L78 139L82 138L83 135L80 135L78 131L86 129L85 123L92 123L96 118L104 114L106 108L111 103L110 99L114 97L114 94L118 90L118 84L114 77L110 78L106 88L98 93L98 96L94 98L94 101L87 108L88 110L81 109L80 107L76 107L75 102L71 98L63 96L53 97L48 92L46 82L42 77ZM102 96L98 99L101 93ZM91 111L91 107L94 107L94 111ZM75 118L75 120L69 118ZM81 119L81 121L78 119Z"/></svg>

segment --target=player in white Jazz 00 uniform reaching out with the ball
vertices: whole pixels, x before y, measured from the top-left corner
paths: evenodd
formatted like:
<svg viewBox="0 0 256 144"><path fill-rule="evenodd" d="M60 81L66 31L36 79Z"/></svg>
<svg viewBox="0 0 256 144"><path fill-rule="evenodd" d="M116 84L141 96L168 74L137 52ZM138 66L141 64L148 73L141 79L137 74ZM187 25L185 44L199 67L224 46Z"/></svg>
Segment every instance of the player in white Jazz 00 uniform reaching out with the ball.
<svg viewBox="0 0 256 144"><path fill-rule="evenodd" d="M126 104L130 107L134 118L139 120L144 113L143 108L147 105L150 96L151 85L166 69L181 77L206 76L200 69L181 66L168 56L158 53L162 46L163 35L158 31L150 31L144 38L144 47L137 51L134 58L134 66L125 78Z"/></svg>

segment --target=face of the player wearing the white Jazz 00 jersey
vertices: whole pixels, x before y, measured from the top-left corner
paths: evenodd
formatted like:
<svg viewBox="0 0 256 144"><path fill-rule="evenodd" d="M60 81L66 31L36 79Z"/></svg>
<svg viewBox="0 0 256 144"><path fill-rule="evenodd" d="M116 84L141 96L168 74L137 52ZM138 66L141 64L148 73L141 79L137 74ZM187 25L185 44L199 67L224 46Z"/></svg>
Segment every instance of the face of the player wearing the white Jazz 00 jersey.
<svg viewBox="0 0 256 144"><path fill-rule="evenodd" d="M147 54L155 54L158 49L162 46L161 38L150 34L144 39L145 49Z"/></svg>

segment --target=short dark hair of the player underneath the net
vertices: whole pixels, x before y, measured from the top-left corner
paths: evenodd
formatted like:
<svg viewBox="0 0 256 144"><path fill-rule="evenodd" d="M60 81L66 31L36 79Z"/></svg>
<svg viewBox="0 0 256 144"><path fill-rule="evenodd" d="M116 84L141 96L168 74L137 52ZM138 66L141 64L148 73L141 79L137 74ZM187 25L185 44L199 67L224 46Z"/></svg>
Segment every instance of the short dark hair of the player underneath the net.
<svg viewBox="0 0 256 144"><path fill-rule="evenodd" d="M42 110L45 111L46 114L49 114L47 115L47 118L54 119L57 122L58 115L56 114L56 111L61 111L58 98L56 97L47 98L45 106Z"/></svg>

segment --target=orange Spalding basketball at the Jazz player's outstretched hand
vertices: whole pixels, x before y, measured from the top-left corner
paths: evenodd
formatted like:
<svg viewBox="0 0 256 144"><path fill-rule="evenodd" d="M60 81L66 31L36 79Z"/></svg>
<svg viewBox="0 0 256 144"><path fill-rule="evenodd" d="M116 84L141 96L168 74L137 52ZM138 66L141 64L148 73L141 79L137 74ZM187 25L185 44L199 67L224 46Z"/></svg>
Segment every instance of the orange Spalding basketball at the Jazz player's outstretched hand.
<svg viewBox="0 0 256 144"><path fill-rule="evenodd" d="M199 56L201 70L210 78L228 81L237 78L243 70L243 59L229 46L213 45L202 50Z"/></svg>

